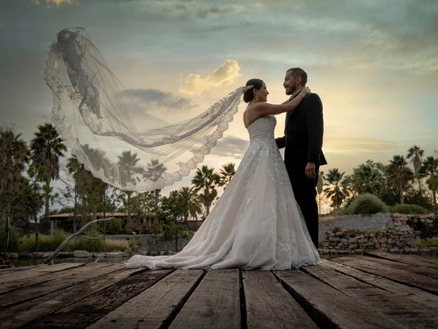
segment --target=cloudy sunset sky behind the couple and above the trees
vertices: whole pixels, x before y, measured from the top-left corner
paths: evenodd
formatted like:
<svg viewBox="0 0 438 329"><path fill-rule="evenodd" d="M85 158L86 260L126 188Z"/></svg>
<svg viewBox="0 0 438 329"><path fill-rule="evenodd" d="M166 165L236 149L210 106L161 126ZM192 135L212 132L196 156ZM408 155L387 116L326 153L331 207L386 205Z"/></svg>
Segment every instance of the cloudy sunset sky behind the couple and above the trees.
<svg viewBox="0 0 438 329"><path fill-rule="evenodd" d="M50 120L44 60L76 26L151 114L194 116L252 77L279 103L300 66L324 105L322 170L387 164L414 144L437 156L438 1L1 0L1 127L29 141ZM240 162L245 106L205 164Z"/></svg>

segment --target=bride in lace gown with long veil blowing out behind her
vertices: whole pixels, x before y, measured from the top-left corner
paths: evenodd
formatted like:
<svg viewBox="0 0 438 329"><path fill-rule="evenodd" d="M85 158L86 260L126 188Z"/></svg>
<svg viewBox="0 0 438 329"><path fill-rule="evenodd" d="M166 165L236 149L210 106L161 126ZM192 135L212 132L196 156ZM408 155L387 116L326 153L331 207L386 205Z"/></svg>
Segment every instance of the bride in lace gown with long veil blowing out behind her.
<svg viewBox="0 0 438 329"><path fill-rule="evenodd" d="M136 255L127 267L269 270L318 261L274 140L274 115L294 111L308 88L273 105L266 102L266 84L252 79L196 117L169 123L129 99L81 27L57 34L44 80L53 94L51 121L71 153L94 176L125 191L153 191L189 175L227 130L242 92L249 103L244 123L250 145L203 225L181 252ZM148 162L153 170L163 163L168 169L151 174Z"/></svg>

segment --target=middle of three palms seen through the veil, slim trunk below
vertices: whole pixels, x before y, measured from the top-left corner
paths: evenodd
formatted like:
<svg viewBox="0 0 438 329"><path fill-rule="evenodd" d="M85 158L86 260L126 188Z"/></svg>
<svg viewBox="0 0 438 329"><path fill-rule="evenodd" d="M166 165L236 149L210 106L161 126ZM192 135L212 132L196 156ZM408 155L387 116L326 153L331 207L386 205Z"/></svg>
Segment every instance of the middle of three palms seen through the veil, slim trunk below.
<svg viewBox="0 0 438 329"><path fill-rule="evenodd" d="M131 154L131 150L129 151L123 151L122 154L118 157L118 165L120 169L120 184L122 186L127 186L127 184L137 184L136 178L133 178L133 174L135 173L143 173L144 170L142 167L136 167L137 162L140 160L140 158L137 158L137 154ZM125 195L127 196L127 212L128 212L128 219L127 219L127 227L131 228L131 195L132 191L124 191Z"/></svg>

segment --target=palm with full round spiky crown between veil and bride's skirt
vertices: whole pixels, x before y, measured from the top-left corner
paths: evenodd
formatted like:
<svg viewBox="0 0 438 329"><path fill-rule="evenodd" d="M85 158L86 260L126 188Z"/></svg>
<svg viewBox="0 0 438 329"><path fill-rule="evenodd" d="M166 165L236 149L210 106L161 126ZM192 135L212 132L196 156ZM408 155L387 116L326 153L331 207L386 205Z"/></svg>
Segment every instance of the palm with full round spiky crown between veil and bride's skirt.
<svg viewBox="0 0 438 329"><path fill-rule="evenodd" d="M209 215L211 204L218 196L216 186L219 184L220 177L213 171L214 168L209 169L209 167L203 166L201 169L196 170L196 175L192 179L194 190L196 192L202 191L199 199L205 206L206 216Z"/></svg>

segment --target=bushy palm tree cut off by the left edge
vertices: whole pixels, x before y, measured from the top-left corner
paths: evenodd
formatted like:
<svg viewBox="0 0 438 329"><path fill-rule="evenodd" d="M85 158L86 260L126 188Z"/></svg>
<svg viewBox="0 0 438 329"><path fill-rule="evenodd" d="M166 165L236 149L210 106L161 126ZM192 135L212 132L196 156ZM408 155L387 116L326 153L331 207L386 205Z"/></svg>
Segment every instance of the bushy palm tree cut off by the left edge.
<svg viewBox="0 0 438 329"><path fill-rule="evenodd" d="M22 171L29 161L26 142L11 129L0 128L0 228L4 210L9 211L10 195L21 182Z"/></svg>

